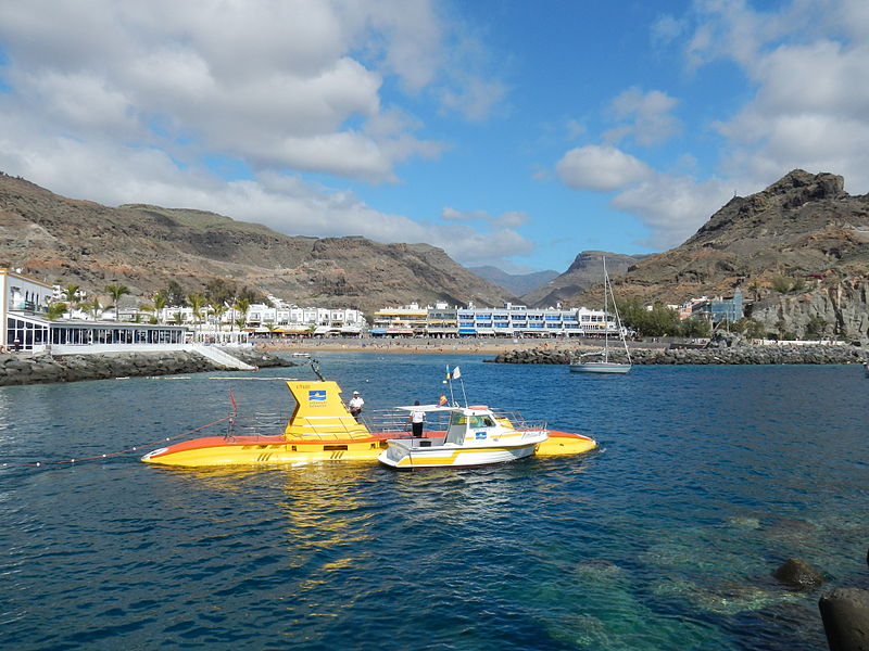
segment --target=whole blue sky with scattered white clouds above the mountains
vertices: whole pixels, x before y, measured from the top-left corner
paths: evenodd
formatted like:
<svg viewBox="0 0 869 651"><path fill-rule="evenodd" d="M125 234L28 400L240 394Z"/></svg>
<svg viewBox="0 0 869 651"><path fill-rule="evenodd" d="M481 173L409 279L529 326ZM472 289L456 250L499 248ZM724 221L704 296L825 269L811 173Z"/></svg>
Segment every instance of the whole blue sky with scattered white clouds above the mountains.
<svg viewBox="0 0 869 651"><path fill-rule="evenodd" d="M0 170L564 271L869 192L866 0L0 0Z"/></svg>

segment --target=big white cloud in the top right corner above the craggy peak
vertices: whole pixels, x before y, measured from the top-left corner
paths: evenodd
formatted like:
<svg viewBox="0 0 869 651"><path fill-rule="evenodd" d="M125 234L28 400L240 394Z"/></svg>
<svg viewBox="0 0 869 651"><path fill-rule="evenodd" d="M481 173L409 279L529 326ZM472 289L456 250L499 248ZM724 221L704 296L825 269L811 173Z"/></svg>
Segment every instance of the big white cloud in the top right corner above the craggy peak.
<svg viewBox="0 0 869 651"><path fill-rule="evenodd" d="M738 2L698 7L689 56L730 59L756 88L713 125L727 138L721 171L763 187L801 167L869 191L869 4L793 2L772 14Z"/></svg>

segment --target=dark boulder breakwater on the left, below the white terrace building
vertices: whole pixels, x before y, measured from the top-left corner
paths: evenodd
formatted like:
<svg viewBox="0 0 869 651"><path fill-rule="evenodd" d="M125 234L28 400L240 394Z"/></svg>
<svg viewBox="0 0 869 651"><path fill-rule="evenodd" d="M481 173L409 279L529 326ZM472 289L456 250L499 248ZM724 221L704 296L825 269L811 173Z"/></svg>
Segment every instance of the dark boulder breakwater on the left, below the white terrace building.
<svg viewBox="0 0 869 651"><path fill-rule="evenodd" d="M277 355L253 349L232 348L226 352L241 361L260 368L295 366ZM224 370L226 367L199 353L187 350L89 355L10 354L0 355L0 386Z"/></svg>

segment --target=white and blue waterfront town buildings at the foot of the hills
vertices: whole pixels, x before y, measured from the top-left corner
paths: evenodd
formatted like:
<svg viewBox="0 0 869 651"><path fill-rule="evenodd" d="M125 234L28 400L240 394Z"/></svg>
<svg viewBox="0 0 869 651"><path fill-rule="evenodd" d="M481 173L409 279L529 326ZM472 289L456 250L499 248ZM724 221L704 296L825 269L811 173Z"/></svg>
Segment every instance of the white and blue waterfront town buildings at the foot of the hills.
<svg viewBox="0 0 869 651"><path fill-rule="evenodd" d="M202 295L156 292L150 302L130 296L124 285L110 284L103 305L78 285L49 284L20 270L0 268L2 323L9 350L62 352L93 345L248 344L253 339L300 337L584 337L618 333L613 314L562 305L529 308L507 303L500 308L450 306L446 303L386 306L370 322L357 309L301 307L267 294L265 302L227 298L207 302ZM700 330L743 316L742 294L730 298L701 297L682 306L666 306L681 320L702 323ZM653 306L645 309L652 311ZM695 329L696 330L696 329Z"/></svg>

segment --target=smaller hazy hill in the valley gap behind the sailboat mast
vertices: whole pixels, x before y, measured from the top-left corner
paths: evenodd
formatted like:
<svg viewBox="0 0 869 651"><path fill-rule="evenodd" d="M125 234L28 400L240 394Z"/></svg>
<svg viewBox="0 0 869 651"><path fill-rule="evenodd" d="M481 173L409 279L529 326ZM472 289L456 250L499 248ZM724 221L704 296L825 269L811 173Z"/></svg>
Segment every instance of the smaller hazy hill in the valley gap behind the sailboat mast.
<svg viewBox="0 0 869 651"><path fill-rule="evenodd" d="M519 301L531 307L551 307L558 303L565 306L583 305L575 303L574 297L602 281L604 256L606 256L606 270L610 278L624 273L630 266L646 257L605 251L583 251L576 257L567 271L546 284L524 294ZM597 303L588 305L596 306Z"/></svg>

